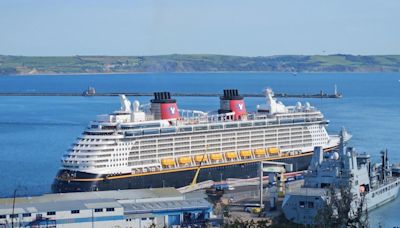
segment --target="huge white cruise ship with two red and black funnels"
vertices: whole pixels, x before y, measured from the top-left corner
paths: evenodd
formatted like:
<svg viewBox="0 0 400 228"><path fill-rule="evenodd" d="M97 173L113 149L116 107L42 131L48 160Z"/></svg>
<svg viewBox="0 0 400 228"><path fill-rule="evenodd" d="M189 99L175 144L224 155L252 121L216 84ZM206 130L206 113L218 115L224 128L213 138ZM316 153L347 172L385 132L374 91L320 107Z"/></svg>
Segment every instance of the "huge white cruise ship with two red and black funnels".
<svg viewBox="0 0 400 228"><path fill-rule="evenodd" d="M309 103L266 101L247 112L236 89L224 90L220 109L178 109L169 92L150 104L120 95L121 109L91 122L61 159L53 192L183 187L206 180L256 177L260 161L307 169L314 147L330 151L338 135Z"/></svg>

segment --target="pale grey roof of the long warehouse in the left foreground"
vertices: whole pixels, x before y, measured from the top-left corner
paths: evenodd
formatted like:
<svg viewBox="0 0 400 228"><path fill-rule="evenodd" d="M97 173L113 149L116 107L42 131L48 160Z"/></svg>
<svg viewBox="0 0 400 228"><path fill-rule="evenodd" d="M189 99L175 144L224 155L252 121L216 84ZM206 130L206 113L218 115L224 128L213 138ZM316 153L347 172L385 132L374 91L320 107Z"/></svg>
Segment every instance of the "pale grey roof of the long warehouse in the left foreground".
<svg viewBox="0 0 400 228"><path fill-rule="evenodd" d="M0 214L12 214L13 198L0 199ZM174 188L132 189L100 192L45 194L20 197L15 201L15 214L49 211L123 208L126 214L154 213L210 208L202 195L188 199Z"/></svg>

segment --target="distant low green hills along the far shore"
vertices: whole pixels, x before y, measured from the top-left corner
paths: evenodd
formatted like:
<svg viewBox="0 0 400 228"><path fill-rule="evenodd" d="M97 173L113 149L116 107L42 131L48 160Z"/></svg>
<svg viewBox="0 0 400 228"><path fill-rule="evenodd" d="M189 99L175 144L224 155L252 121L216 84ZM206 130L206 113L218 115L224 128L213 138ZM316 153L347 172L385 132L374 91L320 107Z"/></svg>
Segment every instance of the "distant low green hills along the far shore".
<svg viewBox="0 0 400 228"><path fill-rule="evenodd" d="M400 55L0 55L0 75L128 72L400 72Z"/></svg>

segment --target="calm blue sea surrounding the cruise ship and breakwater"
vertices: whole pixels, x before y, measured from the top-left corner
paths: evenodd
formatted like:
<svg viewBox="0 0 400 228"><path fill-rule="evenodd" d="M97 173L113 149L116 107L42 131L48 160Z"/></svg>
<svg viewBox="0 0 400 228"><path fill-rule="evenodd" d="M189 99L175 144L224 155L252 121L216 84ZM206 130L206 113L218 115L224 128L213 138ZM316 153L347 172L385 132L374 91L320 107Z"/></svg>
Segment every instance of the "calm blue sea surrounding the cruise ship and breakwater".
<svg viewBox="0 0 400 228"><path fill-rule="evenodd" d="M301 99L323 111L331 120L330 133L342 126L353 135L351 145L378 159L389 149L392 161L400 162L400 74L399 73L190 73L121 74L83 76L3 76L0 92L82 92L93 86L98 92L333 92L343 99ZM134 99L131 97L131 99ZM147 103L149 97L135 98ZM178 97L184 109L215 110L218 98ZM297 99L283 99L295 104ZM246 99L254 110L263 98ZM49 192L60 158L97 114L119 108L117 97L0 97L0 196ZM371 223L383 227L400 224L396 218L400 200L371 213Z"/></svg>

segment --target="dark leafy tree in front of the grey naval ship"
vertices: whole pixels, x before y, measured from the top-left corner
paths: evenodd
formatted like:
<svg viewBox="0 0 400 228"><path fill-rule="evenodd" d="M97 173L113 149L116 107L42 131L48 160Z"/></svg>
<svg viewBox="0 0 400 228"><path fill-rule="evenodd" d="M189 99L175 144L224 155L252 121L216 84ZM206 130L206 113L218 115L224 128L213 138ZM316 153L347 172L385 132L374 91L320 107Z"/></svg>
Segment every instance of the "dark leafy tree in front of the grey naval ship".
<svg viewBox="0 0 400 228"><path fill-rule="evenodd" d="M365 193L360 197L351 192L351 185L329 187L325 206L317 212L315 227L369 227Z"/></svg>

